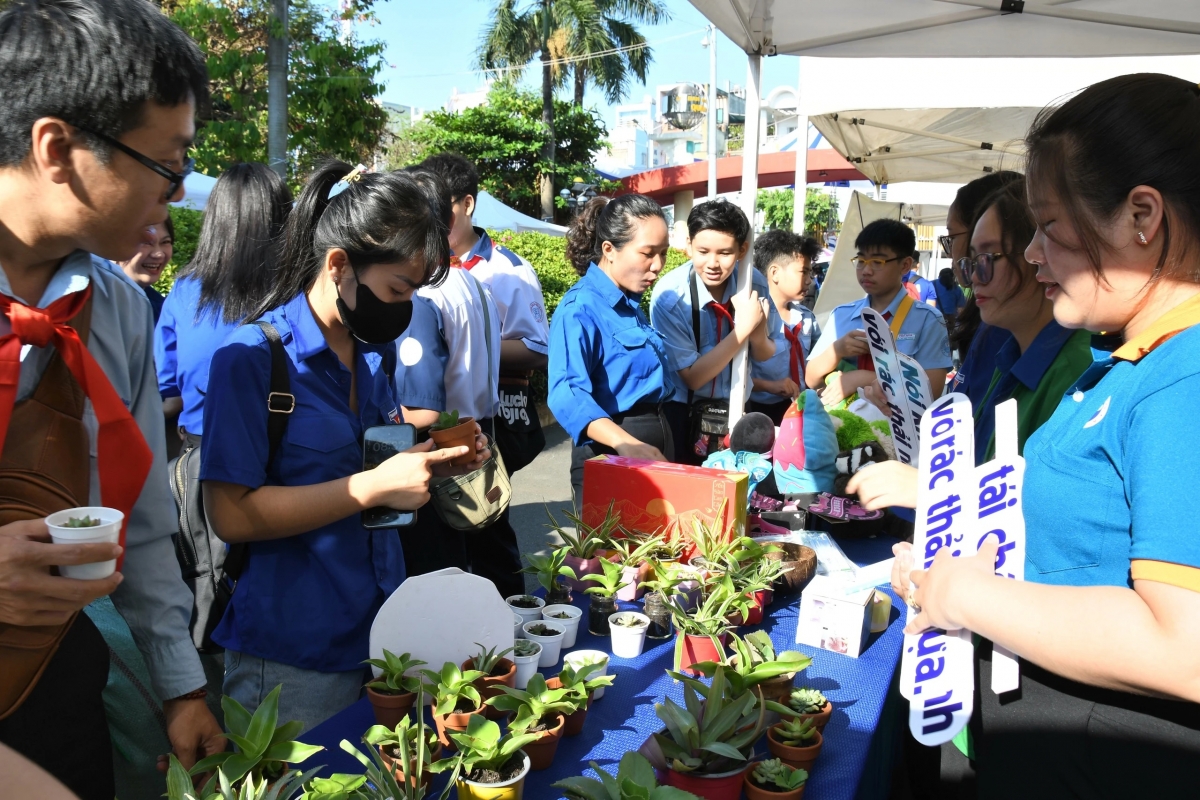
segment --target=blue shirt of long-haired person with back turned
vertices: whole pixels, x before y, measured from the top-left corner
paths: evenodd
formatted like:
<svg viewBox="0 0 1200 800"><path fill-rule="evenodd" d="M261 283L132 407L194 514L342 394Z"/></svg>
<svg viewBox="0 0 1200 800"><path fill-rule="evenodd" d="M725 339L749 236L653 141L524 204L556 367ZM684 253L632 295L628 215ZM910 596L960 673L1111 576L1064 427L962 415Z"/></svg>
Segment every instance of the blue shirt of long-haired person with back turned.
<svg viewBox="0 0 1200 800"><path fill-rule="evenodd" d="M154 329L154 361L158 392L182 397L179 426L188 433L204 433L204 395L209 390L209 361L238 323L226 323L220 308L210 308L200 319L200 282L184 277L175 282L162 305Z"/></svg>

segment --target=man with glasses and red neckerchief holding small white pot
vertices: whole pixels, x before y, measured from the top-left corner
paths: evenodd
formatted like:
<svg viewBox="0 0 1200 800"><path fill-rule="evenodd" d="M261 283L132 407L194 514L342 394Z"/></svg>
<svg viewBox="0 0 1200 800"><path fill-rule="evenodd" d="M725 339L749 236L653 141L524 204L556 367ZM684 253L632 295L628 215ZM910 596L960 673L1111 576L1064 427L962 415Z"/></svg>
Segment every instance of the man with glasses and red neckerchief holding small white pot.
<svg viewBox="0 0 1200 800"><path fill-rule="evenodd" d="M17 0L0 76L0 742L112 800L109 654L79 613L97 597L128 624L180 760L224 748L172 543L150 303L106 260L182 198L208 74L145 0ZM73 506L121 511L121 545L52 543L42 518ZM112 559L107 578L54 571Z"/></svg>

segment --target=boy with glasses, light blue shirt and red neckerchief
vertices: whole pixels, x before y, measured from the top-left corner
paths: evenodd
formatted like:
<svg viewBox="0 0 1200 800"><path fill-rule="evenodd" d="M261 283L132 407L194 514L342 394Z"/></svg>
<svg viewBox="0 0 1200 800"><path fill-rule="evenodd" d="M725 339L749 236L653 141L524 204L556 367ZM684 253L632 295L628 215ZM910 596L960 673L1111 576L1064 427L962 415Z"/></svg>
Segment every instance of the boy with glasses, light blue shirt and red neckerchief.
<svg viewBox="0 0 1200 800"><path fill-rule="evenodd" d="M875 365L863 331L863 308L883 314L896 349L924 368L934 397L940 397L952 366L946 321L935 307L916 302L902 279L912 270L916 236L899 219L876 219L854 240L854 277L866 296L833 309L805 369L809 386L821 392L826 408L854 396L875 381Z"/></svg>

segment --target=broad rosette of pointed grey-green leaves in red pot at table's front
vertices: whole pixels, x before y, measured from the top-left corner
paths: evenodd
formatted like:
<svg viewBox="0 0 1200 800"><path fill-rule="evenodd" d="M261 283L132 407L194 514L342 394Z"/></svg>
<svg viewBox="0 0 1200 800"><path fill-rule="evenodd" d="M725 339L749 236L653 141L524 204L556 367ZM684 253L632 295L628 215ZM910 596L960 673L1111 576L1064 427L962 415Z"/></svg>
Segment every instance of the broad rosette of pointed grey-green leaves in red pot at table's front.
<svg viewBox="0 0 1200 800"><path fill-rule="evenodd" d="M671 698L654 704L666 724L654 741L667 765L677 772L714 775L745 763L763 732L766 706L751 692L727 696L726 668L718 667L713 682L684 682L684 706Z"/></svg>

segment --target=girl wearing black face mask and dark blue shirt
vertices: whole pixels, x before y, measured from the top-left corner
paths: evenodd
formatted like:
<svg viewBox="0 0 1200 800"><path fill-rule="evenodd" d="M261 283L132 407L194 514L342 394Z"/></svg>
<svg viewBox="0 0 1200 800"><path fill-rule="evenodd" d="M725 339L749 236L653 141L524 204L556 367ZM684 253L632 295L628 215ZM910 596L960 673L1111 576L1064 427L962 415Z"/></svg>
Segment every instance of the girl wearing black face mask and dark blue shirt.
<svg viewBox="0 0 1200 800"><path fill-rule="evenodd" d="M449 260L445 223L410 178L324 164L295 204L275 287L252 315L278 331L288 360L294 407L276 452L268 333L244 325L212 356L205 507L223 540L248 543L212 639L226 648L224 692L247 709L282 682L280 718L307 729L359 697L371 622L406 576L396 533L366 530L359 512L424 505L431 473L467 451L426 444L360 471L362 432L401 421L392 341L413 293Z"/></svg>

